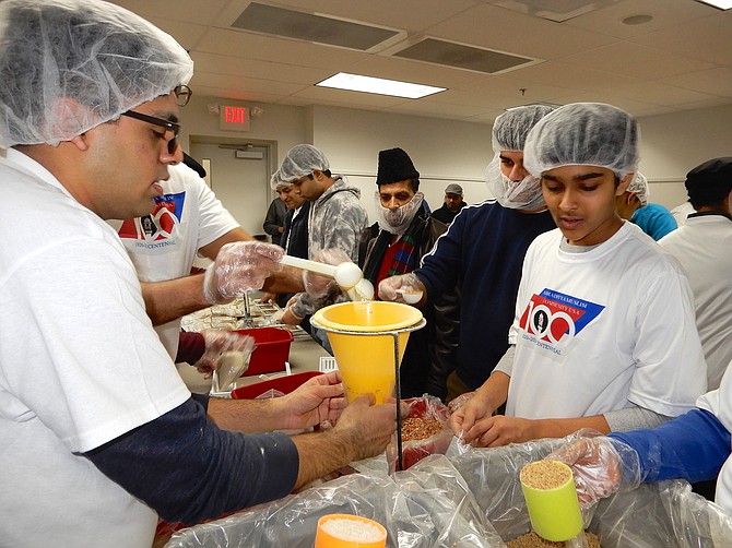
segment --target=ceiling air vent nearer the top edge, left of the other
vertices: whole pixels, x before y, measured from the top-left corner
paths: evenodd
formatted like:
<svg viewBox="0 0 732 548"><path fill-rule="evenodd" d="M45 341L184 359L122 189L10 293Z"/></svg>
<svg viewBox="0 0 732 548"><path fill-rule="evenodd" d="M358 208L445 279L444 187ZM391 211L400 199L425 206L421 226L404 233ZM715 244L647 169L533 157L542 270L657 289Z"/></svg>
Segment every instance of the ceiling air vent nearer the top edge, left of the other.
<svg viewBox="0 0 732 548"><path fill-rule="evenodd" d="M281 38L294 38L362 51L398 34L395 31L256 2L250 3L232 26Z"/></svg>

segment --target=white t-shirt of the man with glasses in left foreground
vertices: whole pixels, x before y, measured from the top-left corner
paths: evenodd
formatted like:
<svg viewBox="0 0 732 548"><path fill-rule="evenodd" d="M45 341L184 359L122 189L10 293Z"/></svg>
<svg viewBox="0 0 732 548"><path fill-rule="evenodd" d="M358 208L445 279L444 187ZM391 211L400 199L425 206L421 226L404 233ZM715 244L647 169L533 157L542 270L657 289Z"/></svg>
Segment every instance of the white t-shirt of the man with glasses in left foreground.
<svg viewBox="0 0 732 548"><path fill-rule="evenodd" d="M14 150L0 181L0 544L150 546L155 512L79 453L190 393L115 231Z"/></svg>

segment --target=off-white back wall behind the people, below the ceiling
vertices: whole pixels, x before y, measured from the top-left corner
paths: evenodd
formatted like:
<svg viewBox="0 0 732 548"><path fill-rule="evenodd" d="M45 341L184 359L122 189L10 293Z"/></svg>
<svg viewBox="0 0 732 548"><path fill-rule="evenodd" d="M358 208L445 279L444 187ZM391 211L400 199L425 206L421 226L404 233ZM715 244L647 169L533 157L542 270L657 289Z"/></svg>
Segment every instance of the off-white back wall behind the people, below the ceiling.
<svg viewBox="0 0 732 548"><path fill-rule="evenodd" d="M219 118L208 111L210 104L258 106L263 112L251 118L248 132L223 131ZM400 146L409 153L421 174L421 189L435 209L449 182L463 187L469 203L489 198L483 183L483 170L493 155L491 124L486 123L324 106L255 105L196 95L182 109L181 121L186 150L190 150L191 135L275 143L272 170L295 144L315 144L328 155L334 172L346 175L362 189L371 222L376 218L377 157L383 148ZM689 169L716 156L732 156L732 106L646 117L639 122L640 170L651 182L651 201L669 209L686 200L683 181Z"/></svg>

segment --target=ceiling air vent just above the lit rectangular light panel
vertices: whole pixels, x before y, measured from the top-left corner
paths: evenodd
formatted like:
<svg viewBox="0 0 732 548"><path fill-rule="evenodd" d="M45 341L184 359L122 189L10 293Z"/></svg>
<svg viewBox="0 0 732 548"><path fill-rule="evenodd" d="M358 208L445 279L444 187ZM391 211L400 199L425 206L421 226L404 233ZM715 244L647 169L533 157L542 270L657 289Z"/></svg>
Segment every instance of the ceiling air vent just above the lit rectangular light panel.
<svg viewBox="0 0 732 548"><path fill-rule="evenodd" d="M461 46L451 41L425 38L401 51L393 53L394 57L414 59L456 69L465 69L477 72L495 74L522 64L534 63L535 59L528 57L501 53L491 49Z"/></svg>

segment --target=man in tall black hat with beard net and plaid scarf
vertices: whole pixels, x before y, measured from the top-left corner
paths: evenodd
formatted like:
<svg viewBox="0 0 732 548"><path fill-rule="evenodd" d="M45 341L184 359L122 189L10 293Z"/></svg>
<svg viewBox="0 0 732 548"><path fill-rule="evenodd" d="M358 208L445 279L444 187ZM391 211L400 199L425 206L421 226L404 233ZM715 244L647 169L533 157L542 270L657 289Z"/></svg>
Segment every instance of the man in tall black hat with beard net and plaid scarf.
<svg viewBox="0 0 732 548"><path fill-rule="evenodd" d="M363 271L374 287L389 276L412 272L429 251L447 226L424 207L420 192L420 171L402 148L379 152L376 175L376 211L379 233L369 239ZM426 327L410 335L400 367L402 397L418 397L429 393L445 397L449 371L436 367L430 348L435 341L434 309L424 310Z"/></svg>

